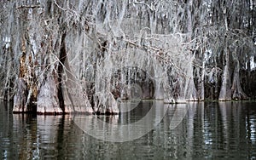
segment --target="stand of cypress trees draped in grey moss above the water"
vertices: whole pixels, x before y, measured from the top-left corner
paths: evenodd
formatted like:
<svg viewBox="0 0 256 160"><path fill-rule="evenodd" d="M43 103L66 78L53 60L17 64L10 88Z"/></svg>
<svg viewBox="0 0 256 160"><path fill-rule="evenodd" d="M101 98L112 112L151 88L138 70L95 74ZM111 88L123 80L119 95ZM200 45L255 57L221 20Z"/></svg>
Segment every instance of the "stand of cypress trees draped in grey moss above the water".
<svg viewBox="0 0 256 160"><path fill-rule="evenodd" d="M14 100L15 112L116 114L120 100L256 95L253 1L1 6L1 97Z"/></svg>

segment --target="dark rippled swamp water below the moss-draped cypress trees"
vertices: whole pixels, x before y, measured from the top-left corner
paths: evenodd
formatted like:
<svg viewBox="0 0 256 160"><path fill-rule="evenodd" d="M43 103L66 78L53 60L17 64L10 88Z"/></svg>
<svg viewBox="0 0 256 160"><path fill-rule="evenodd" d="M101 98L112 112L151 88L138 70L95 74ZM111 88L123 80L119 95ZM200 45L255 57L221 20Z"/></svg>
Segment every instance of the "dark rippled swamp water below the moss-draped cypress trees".
<svg viewBox="0 0 256 160"><path fill-rule="evenodd" d="M152 115L146 121L160 120L159 124L136 140L112 142L87 134L73 116L14 115L11 104L0 102L0 159L256 158L255 102L164 105L146 100L115 117L89 115L87 129L112 134L117 130L106 128L105 132L105 125L95 127L96 120L136 123L153 105L154 113L161 116Z"/></svg>

